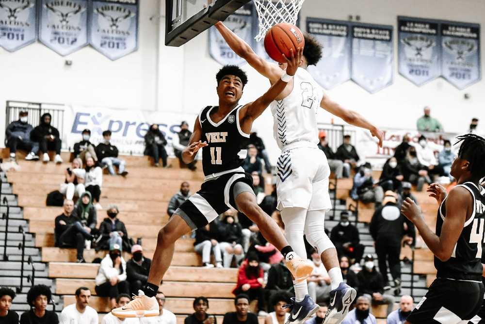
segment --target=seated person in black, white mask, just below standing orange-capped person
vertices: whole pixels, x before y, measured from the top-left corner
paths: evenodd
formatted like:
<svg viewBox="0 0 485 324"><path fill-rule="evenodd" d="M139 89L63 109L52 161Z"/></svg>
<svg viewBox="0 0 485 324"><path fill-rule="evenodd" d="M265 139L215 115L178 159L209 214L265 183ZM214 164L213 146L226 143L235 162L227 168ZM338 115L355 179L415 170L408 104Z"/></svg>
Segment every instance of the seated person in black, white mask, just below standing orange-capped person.
<svg viewBox="0 0 485 324"><path fill-rule="evenodd" d="M386 304L388 305L388 315L392 311L394 305L394 297L384 293L384 278L375 269L374 258L372 255L367 255L364 259L364 267L357 274L359 282L358 294L364 295L372 304ZM358 309L358 300L357 300Z"/></svg>

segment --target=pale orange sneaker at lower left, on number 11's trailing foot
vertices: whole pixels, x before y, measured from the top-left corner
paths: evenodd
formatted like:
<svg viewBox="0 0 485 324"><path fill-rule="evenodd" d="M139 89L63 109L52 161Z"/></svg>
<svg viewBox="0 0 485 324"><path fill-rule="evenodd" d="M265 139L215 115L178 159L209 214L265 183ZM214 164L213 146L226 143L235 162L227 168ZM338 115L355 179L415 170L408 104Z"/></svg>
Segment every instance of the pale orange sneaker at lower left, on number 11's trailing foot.
<svg viewBox="0 0 485 324"><path fill-rule="evenodd" d="M148 297L141 290L138 296L123 307L114 308L111 313L119 318L151 317L160 315L157 299Z"/></svg>

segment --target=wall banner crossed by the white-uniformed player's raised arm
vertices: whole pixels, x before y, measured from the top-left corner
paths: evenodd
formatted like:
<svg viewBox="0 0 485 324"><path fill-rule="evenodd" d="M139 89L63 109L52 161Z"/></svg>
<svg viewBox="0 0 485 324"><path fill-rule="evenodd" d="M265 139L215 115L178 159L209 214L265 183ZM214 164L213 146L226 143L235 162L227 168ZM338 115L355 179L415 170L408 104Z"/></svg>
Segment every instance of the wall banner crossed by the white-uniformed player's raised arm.
<svg viewBox="0 0 485 324"><path fill-rule="evenodd" d="M245 4L242 8L236 10L234 14L228 16L224 21L224 25L241 37L251 48L255 48L256 41L254 40L252 27L252 3ZM209 29L209 54L221 65L243 65L246 63L227 45L226 40L214 26Z"/></svg>

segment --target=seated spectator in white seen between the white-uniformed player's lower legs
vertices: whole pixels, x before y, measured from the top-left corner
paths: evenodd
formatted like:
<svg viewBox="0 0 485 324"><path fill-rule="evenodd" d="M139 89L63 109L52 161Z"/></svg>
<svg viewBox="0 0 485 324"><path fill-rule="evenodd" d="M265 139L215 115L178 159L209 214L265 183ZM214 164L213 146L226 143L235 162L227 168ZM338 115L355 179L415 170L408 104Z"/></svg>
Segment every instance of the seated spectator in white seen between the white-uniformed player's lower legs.
<svg viewBox="0 0 485 324"><path fill-rule="evenodd" d="M311 260L313 261L313 272L307 278L308 282L308 294L315 303L322 303L328 301L330 297L330 277L323 266L320 254L313 249L311 254Z"/></svg>

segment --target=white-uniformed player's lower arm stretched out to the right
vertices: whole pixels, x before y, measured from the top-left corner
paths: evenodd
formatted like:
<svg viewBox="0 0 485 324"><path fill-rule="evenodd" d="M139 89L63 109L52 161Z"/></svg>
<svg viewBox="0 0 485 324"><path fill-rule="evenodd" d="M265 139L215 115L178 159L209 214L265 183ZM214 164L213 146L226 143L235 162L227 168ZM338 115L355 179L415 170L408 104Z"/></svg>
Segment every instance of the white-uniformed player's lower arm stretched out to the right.
<svg viewBox="0 0 485 324"><path fill-rule="evenodd" d="M323 96L322 101L320 102L320 107L322 107L327 112L342 118L346 123L350 125L370 130L372 136L377 137L377 139L379 140L379 146L382 147L383 132L359 113L343 108L337 102L332 101L326 95Z"/></svg>

